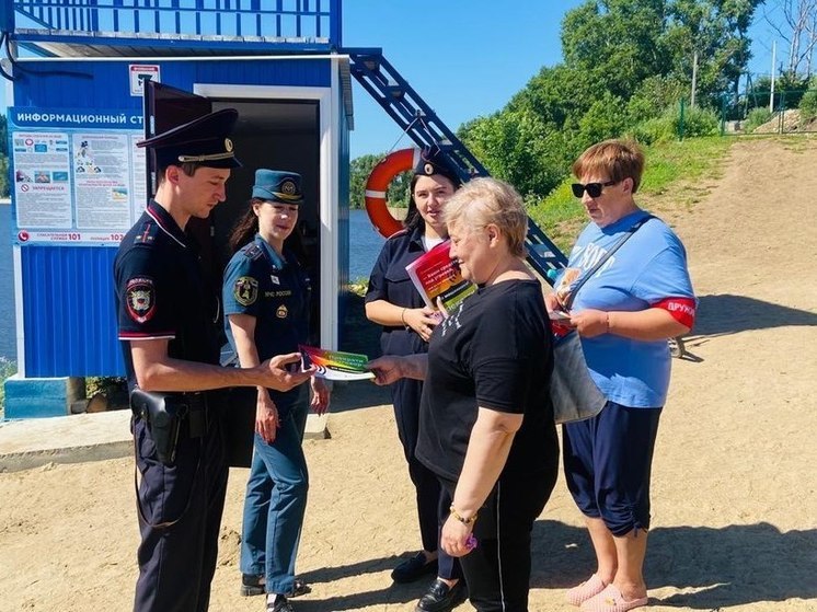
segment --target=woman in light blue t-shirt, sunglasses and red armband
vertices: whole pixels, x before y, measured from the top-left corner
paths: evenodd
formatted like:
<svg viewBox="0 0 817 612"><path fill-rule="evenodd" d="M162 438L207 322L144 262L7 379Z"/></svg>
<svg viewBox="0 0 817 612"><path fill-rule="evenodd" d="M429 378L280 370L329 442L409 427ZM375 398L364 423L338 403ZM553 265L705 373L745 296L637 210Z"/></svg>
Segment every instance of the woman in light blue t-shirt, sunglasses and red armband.
<svg viewBox="0 0 817 612"><path fill-rule="evenodd" d="M576 160L573 193L589 222L545 297L553 311L575 293L568 325L607 397L598 415L563 429L565 481L596 552L596 571L567 601L587 612L647 605L643 566L653 451L669 388L667 339L689 332L695 316L683 244L635 203L643 171L644 153L623 140L594 145Z"/></svg>

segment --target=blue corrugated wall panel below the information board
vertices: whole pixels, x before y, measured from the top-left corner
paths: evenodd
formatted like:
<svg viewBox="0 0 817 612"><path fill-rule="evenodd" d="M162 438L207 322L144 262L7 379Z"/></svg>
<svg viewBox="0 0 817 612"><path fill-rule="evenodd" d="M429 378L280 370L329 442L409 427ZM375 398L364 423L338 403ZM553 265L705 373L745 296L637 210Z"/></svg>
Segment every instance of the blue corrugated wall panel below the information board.
<svg viewBox="0 0 817 612"><path fill-rule="evenodd" d="M25 376L122 376L116 339L116 249L21 247Z"/></svg>

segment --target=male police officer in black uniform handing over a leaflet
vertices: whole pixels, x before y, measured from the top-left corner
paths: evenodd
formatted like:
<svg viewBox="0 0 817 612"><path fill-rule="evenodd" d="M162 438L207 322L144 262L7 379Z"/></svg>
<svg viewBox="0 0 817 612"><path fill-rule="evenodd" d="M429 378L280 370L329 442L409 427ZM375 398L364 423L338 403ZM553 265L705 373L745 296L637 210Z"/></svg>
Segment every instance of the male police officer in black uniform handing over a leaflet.
<svg viewBox="0 0 817 612"><path fill-rule="evenodd" d="M297 354L254 368L218 366L219 288L185 227L225 199L230 170L241 165L229 139L237 118L232 108L218 111L138 143L156 152L159 186L114 263L128 386L175 392L166 401L179 407L170 449L156 413L135 412L131 422L140 477L138 612L208 608L228 473L219 413L229 408L212 390L286 391L312 374L290 371Z"/></svg>

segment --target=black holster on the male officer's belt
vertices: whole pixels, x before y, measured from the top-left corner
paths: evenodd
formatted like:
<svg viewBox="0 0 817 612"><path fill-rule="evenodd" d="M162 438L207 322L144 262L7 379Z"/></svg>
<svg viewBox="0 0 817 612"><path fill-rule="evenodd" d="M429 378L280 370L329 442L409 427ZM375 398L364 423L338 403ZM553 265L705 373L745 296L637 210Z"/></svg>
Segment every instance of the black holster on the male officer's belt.
<svg viewBox="0 0 817 612"><path fill-rule="evenodd" d="M188 406L182 393L156 393L138 386L130 392L130 409L148 426L159 461L172 465L182 419Z"/></svg>

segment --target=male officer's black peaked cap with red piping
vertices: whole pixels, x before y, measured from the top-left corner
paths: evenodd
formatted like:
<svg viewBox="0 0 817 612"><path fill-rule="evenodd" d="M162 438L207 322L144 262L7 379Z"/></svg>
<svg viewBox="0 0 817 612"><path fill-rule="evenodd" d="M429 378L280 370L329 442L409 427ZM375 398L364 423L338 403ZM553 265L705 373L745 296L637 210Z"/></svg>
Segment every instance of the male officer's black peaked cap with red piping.
<svg viewBox="0 0 817 612"><path fill-rule="evenodd" d="M239 112L234 108L216 111L136 146L156 150L159 168L187 162L207 168L241 168L229 138L238 118Z"/></svg>

